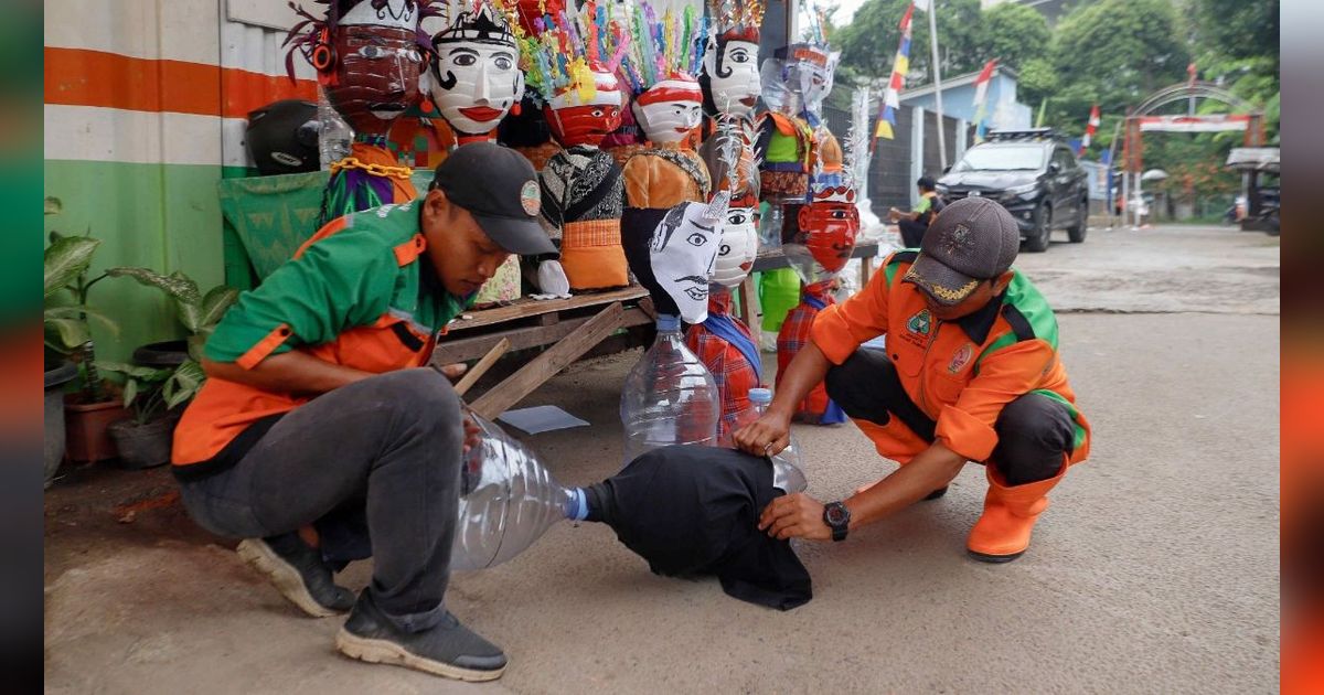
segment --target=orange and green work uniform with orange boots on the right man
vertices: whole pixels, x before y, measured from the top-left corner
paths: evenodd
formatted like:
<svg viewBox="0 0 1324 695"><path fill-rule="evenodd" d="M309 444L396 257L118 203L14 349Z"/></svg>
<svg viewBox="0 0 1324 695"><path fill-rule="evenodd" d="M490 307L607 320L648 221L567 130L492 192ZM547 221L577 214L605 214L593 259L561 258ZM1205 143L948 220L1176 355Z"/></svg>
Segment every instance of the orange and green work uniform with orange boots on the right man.
<svg viewBox="0 0 1324 695"><path fill-rule="evenodd" d="M1058 356L1057 318L1013 270L984 308L941 322L923 290L902 281L916 257L894 253L862 291L816 316L810 339L834 365L828 394L883 457L904 465L940 442L989 463L969 548L1012 559L1029 544L1043 495L1090 453L1090 425ZM880 335L886 352L861 348Z"/></svg>

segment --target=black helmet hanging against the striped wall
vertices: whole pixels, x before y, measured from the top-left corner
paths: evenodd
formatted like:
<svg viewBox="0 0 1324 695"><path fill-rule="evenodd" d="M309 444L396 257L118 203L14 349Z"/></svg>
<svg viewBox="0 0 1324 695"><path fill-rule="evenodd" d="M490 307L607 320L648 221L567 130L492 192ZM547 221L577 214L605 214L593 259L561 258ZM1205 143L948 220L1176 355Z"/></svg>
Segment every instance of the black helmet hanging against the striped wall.
<svg viewBox="0 0 1324 695"><path fill-rule="evenodd" d="M249 156L262 176L318 171L318 105L282 99L249 111Z"/></svg>

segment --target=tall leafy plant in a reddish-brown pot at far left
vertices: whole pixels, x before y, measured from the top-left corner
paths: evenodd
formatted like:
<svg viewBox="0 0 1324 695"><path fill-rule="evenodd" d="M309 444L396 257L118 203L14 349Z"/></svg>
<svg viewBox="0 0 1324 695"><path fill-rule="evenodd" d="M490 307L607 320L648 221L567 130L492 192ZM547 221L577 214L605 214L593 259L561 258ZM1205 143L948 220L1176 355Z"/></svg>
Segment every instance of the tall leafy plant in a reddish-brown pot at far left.
<svg viewBox="0 0 1324 695"><path fill-rule="evenodd" d="M46 199L46 214L60 212L60 200ZM91 287L106 275L87 278L91 257L101 245L90 234L81 237L50 233L44 255L44 330L46 346L46 483L54 478L60 461L102 461L115 457L106 436L110 422L123 417L118 398L110 397L95 367L95 344L89 322L110 331L115 323L87 306ZM82 376L77 393L64 393L65 385ZM64 402L64 408L58 405ZM52 413L58 413L54 417ZM65 445L60 446L64 432Z"/></svg>

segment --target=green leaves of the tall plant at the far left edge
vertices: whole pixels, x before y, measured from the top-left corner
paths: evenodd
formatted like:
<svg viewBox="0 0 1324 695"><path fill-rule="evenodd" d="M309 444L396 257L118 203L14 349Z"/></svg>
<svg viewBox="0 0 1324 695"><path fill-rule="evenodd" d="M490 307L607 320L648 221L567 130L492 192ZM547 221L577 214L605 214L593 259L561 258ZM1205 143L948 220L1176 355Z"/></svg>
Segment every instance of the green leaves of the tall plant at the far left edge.
<svg viewBox="0 0 1324 695"><path fill-rule="evenodd" d="M46 197L45 214L58 214L62 209L60 199ZM89 278L93 254L101 240L87 230L81 237L50 233L42 265L42 323L46 348L71 357L83 371L83 398L89 402L101 401L105 389L97 373L97 348L91 339L90 322L97 322L107 331L119 331L115 322L87 304L87 297L94 285L107 275L102 273Z"/></svg>

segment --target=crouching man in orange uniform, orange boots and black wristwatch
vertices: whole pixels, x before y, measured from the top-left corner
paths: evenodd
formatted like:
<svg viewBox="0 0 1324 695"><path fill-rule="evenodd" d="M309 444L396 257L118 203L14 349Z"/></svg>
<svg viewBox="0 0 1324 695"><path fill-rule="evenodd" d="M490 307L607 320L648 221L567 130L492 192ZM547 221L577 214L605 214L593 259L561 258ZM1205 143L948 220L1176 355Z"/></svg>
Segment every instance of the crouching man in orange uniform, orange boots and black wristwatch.
<svg viewBox="0 0 1324 695"><path fill-rule="evenodd" d="M936 499L968 461L989 490L967 549L1005 563L1030 544L1045 496L1090 450L1090 425L1058 359L1058 324L1012 269L1016 220L1001 205L948 205L922 250L892 254L861 293L814 320L761 420L736 432L749 453L788 443L794 406L826 377L828 394L902 467L850 498L773 500L760 528L776 537L842 540L919 499ZM886 349L861 346L886 335Z"/></svg>

